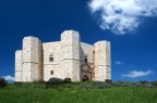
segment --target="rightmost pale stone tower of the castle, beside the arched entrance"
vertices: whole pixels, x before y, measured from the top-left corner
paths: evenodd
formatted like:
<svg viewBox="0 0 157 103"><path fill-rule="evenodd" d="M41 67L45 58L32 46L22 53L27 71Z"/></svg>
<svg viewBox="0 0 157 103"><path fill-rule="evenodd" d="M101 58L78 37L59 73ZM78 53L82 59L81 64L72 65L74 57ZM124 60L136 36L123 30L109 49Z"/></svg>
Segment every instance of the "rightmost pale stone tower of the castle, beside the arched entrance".
<svg viewBox="0 0 157 103"><path fill-rule="evenodd" d="M95 43L95 80L111 79L110 74L110 42L98 41Z"/></svg>

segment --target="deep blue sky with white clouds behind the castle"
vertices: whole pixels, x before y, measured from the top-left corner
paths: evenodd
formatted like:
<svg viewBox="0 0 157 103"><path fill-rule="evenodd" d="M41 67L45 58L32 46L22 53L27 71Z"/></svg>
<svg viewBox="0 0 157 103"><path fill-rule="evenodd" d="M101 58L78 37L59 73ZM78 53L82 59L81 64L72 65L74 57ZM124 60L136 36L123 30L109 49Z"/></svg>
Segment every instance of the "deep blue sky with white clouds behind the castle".
<svg viewBox="0 0 157 103"><path fill-rule="evenodd" d="M112 80L157 80L157 0L0 0L0 77L14 80L15 51L25 36L111 42Z"/></svg>

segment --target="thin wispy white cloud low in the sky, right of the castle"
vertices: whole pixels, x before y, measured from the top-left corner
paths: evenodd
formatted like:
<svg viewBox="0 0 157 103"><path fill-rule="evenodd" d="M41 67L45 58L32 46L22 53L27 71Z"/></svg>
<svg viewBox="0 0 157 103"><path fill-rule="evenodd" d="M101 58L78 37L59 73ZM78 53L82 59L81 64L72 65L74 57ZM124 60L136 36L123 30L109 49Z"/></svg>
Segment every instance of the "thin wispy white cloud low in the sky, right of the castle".
<svg viewBox="0 0 157 103"><path fill-rule="evenodd" d="M131 77L131 78L136 78L136 77L143 77L143 76L148 76L153 74L153 70L147 70L147 72L142 72L142 70L133 70L130 72L129 74L123 74L123 77Z"/></svg>

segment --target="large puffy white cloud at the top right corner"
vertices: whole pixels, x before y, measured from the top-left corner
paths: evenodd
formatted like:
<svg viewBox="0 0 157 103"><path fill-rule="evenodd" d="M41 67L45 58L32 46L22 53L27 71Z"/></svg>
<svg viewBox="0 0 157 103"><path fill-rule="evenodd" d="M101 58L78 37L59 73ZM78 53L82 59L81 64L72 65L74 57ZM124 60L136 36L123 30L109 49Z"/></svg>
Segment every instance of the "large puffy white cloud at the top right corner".
<svg viewBox="0 0 157 103"><path fill-rule="evenodd" d="M99 26L114 34L133 33L144 17L157 15L157 0L90 0L90 12L99 14Z"/></svg>

